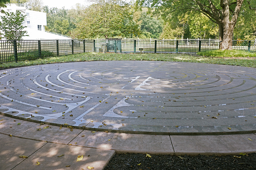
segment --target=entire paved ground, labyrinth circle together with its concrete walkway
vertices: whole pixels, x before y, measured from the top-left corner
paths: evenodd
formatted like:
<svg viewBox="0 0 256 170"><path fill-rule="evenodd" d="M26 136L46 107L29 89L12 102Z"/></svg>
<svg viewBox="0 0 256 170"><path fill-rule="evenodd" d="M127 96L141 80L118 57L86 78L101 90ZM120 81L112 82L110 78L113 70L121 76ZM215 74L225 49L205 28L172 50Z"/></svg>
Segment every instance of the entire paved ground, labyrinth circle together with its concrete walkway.
<svg viewBox="0 0 256 170"><path fill-rule="evenodd" d="M0 113L6 169L103 169L115 152L256 152L256 69L97 61L1 70ZM75 161L88 152L95 157Z"/></svg>

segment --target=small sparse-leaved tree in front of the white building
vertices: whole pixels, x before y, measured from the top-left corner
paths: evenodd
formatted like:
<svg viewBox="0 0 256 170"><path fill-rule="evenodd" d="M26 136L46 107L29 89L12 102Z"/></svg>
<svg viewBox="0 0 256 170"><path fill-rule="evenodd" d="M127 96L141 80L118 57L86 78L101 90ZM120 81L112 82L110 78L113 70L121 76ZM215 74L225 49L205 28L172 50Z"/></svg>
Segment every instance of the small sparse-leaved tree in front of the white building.
<svg viewBox="0 0 256 170"><path fill-rule="evenodd" d="M26 26L22 25L22 22L25 20L25 16L21 14L20 11L16 11L16 13L11 12L5 13L6 16L1 16L2 22L0 23L0 30L4 31L4 33L0 33L4 35L6 39L22 39L27 31L22 31Z"/></svg>

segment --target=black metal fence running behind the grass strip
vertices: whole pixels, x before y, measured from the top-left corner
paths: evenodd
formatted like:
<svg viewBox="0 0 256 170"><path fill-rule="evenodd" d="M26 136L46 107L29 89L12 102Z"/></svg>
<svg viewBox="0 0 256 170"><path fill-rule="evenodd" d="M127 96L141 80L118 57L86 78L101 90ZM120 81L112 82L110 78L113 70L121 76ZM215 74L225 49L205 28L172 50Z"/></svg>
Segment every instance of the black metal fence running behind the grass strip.
<svg viewBox="0 0 256 170"><path fill-rule="evenodd" d="M196 54L219 49L219 43L211 39L0 40L0 63L85 52ZM232 47L256 52L256 41L233 41Z"/></svg>

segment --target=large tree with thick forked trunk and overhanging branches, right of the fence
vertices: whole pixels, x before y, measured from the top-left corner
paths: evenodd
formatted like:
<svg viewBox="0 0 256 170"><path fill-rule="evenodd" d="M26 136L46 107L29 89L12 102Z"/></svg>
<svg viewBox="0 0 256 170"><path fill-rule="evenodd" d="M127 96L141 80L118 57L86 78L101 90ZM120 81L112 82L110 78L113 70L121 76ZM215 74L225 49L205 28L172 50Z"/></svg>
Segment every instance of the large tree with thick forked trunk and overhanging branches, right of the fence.
<svg viewBox="0 0 256 170"><path fill-rule="evenodd" d="M137 0L137 5L154 8L165 17L173 12L200 12L218 24L220 49L232 49L234 27L243 2L244 0Z"/></svg>

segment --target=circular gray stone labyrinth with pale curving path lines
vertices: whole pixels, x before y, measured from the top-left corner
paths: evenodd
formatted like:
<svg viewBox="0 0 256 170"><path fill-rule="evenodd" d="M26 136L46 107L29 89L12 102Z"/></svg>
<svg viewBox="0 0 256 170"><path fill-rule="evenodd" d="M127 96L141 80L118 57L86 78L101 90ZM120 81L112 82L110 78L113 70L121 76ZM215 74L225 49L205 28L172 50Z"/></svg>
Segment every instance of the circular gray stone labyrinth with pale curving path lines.
<svg viewBox="0 0 256 170"><path fill-rule="evenodd" d="M256 131L256 69L95 61L0 71L0 112L88 130L152 134Z"/></svg>

